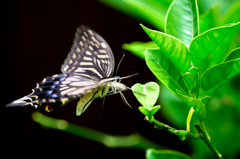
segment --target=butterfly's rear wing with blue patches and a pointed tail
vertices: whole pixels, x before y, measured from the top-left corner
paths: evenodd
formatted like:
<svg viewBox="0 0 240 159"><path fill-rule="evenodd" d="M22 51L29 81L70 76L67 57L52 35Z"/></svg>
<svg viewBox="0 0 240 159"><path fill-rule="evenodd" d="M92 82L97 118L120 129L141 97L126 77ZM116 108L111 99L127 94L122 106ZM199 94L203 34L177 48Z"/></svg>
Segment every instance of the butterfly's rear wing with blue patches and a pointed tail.
<svg viewBox="0 0 240 159"><path fill-rule="evenodd" d="M37 84L33 92L23 98L9 103L7 106L33 105L36 108L45 104L58 107L73 98L81 98L93 92L98 82L81 76L66 76L64 74L49 76Z"/></svg>

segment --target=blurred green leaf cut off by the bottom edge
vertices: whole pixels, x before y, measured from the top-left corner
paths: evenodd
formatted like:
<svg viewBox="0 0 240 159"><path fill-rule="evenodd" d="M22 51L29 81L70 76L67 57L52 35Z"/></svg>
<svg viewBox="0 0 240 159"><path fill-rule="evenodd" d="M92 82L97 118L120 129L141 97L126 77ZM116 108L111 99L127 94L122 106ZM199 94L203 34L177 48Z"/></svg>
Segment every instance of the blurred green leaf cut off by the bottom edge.
<svg viewBox="0 0 240 159"><path fill-rule="evenodd" d="M191 159L184 153L173 150L155 150L153 148L147 149L146 159Z"/></svg>

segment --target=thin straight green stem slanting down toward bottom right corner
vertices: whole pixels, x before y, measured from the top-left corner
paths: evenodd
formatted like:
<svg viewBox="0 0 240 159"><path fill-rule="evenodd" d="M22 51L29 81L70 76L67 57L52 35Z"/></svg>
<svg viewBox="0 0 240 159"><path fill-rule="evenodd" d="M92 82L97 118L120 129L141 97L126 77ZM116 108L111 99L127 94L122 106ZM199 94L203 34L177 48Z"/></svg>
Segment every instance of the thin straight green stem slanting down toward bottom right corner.
<svg viewBox="0 0 240 159"><path fill-rule="evenodd" d="M201 125L201 126L200 126ZM207 146L210 148L210 150L213 152L213 154L219 158L222 159L222 155L218 152L218 150L214 147L214 145L211 142L211 139L205 130L205 126L203 123L195 123L194 126L196 127L197 131L201 134L201 139L207 144Z"/></svg>

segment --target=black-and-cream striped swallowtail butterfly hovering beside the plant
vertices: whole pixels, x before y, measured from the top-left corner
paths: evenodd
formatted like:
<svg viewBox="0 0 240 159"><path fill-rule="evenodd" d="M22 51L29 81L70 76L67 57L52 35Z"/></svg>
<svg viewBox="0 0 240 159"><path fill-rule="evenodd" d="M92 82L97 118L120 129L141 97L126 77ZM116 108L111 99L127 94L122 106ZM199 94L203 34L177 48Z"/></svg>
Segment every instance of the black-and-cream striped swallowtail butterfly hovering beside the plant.
<svg viewBox="0 0 240 159"><path fill-rule="evenodd" d="M7 104L7 107L32 105L37 110L51 112L79 98L76 115L81 115L94 99L116 93L120 93L128 104L121 93L127 88L120 83L124 77L112 77L114 63L107 42L89 27L81 25L61 67L62 74L44 78L31 94Z"/></svg>

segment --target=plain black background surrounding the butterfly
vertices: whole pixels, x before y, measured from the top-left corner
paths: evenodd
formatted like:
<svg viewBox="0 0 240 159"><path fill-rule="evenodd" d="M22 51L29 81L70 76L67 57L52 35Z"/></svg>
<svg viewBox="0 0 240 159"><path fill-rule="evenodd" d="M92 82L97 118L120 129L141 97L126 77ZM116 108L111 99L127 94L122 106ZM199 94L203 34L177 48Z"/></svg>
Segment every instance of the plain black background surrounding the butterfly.
<svg viewBox="0 0 240 159"><path fill-rule="evenodd" d="M65 132L42 128L32 121L31 114L35 109L31 106L6 109L7 103L30 94L44 77L61 73L60 67L79 25L88 25L108 42L117 65L122 57L123 43L150 40L139 26L140 22L93 0L9 0L1 2L0 10L2 156L145 158L145 152L141 150L111 149ZM123 80L123 83L131 87L135 83L155 80L143 60L130 52L125 53L118 75L136 72L140 75ZM75 116L76 101L44 114L111 135L140 133L169 149L190 152L184 146L187 141L181 142L177 136L154 129L143 120L144 116L137 108L140 104L131 91L124 95L132 109L120 95L113 95L106 97L102 111L102 100L96 99L79 117ZM161 113L158 119L167 123L161 119Z"/></svg>

